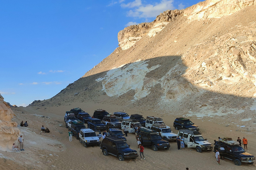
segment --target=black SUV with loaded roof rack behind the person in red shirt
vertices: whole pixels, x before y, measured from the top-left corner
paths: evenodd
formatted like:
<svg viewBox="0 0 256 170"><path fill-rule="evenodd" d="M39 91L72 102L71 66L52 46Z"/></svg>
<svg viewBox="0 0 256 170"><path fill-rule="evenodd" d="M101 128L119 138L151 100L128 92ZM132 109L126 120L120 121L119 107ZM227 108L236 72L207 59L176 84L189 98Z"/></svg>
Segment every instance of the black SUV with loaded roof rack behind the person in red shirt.
<svg viewBox="0 0 256 170"><path fill-rule="evenodd" d="M141 144L143 146L151 147L154 151L158 151L158 148L164 148L166 150L170 148L170 143L163 140L155 130L140 128L139 136L141 139Z"/></svg>

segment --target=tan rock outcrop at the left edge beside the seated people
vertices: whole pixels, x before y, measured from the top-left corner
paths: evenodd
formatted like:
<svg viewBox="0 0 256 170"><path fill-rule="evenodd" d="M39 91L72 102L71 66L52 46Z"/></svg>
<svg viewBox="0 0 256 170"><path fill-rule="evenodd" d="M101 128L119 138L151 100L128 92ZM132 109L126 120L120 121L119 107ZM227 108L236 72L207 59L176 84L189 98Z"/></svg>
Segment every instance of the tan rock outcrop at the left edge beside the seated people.
<svg viewBox="0 0 256 170"><path fill-rule="evenodd" d="M4 101L0 95L0 150L12 150L12 143L18 139L20 130L17 123L12 122L14 116L10 106Z"/></svg>

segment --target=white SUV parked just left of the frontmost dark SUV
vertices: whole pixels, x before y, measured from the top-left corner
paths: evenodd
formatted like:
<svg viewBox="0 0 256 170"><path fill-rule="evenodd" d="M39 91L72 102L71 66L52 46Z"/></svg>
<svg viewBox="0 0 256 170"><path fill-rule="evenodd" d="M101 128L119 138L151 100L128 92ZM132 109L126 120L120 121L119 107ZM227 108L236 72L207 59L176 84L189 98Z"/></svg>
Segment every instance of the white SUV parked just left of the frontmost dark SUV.
<svg viewBox="0 0 256 170"><path fill-rule="evenodd" d="M88 147L88 145L100 146L101 136L102 134L96 134L92 129L85 128L80 130L79 141L83 143L85 147Z"/></svg>

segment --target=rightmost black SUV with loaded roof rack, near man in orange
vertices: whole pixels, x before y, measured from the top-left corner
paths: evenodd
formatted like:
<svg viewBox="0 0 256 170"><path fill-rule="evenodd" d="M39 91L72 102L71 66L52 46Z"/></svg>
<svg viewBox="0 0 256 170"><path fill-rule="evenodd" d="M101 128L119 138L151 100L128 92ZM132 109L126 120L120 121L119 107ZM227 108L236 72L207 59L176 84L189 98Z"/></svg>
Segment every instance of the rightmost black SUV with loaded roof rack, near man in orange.
<svg viewBox="0 0 256 170"><path fill-rule="evenodd" d="M243 147L238 144L231 145L231 141L216 141L214 144L214 152L216 152L217 149L220 152L220 156L232 160L236 165L242 165L242 162L253 164L255 161L255 156L245 152ZM225 150L220 150L221 146L223 146Z"/></svg>

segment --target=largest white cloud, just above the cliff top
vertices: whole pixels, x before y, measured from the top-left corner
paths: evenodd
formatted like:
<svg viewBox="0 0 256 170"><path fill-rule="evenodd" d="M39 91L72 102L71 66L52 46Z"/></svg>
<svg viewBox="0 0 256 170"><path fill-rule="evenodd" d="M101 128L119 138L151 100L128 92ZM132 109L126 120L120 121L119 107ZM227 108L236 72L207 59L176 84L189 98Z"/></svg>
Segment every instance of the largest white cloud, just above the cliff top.
<svg viewBox="0 0 256 170"><path fill-rule="evenodd" d="M134 1L135 2L135 1ZM129 3L128 3L129 4ZM128 4L126 4L128 6ZM122 5L121 5L122 6ZM128 17L139 17L139 18L150 18L156 17L161 12L166 10L174 10L173 0L162 0L160 3L152 4L142 4L133 10L127 12Z"/></svg>

